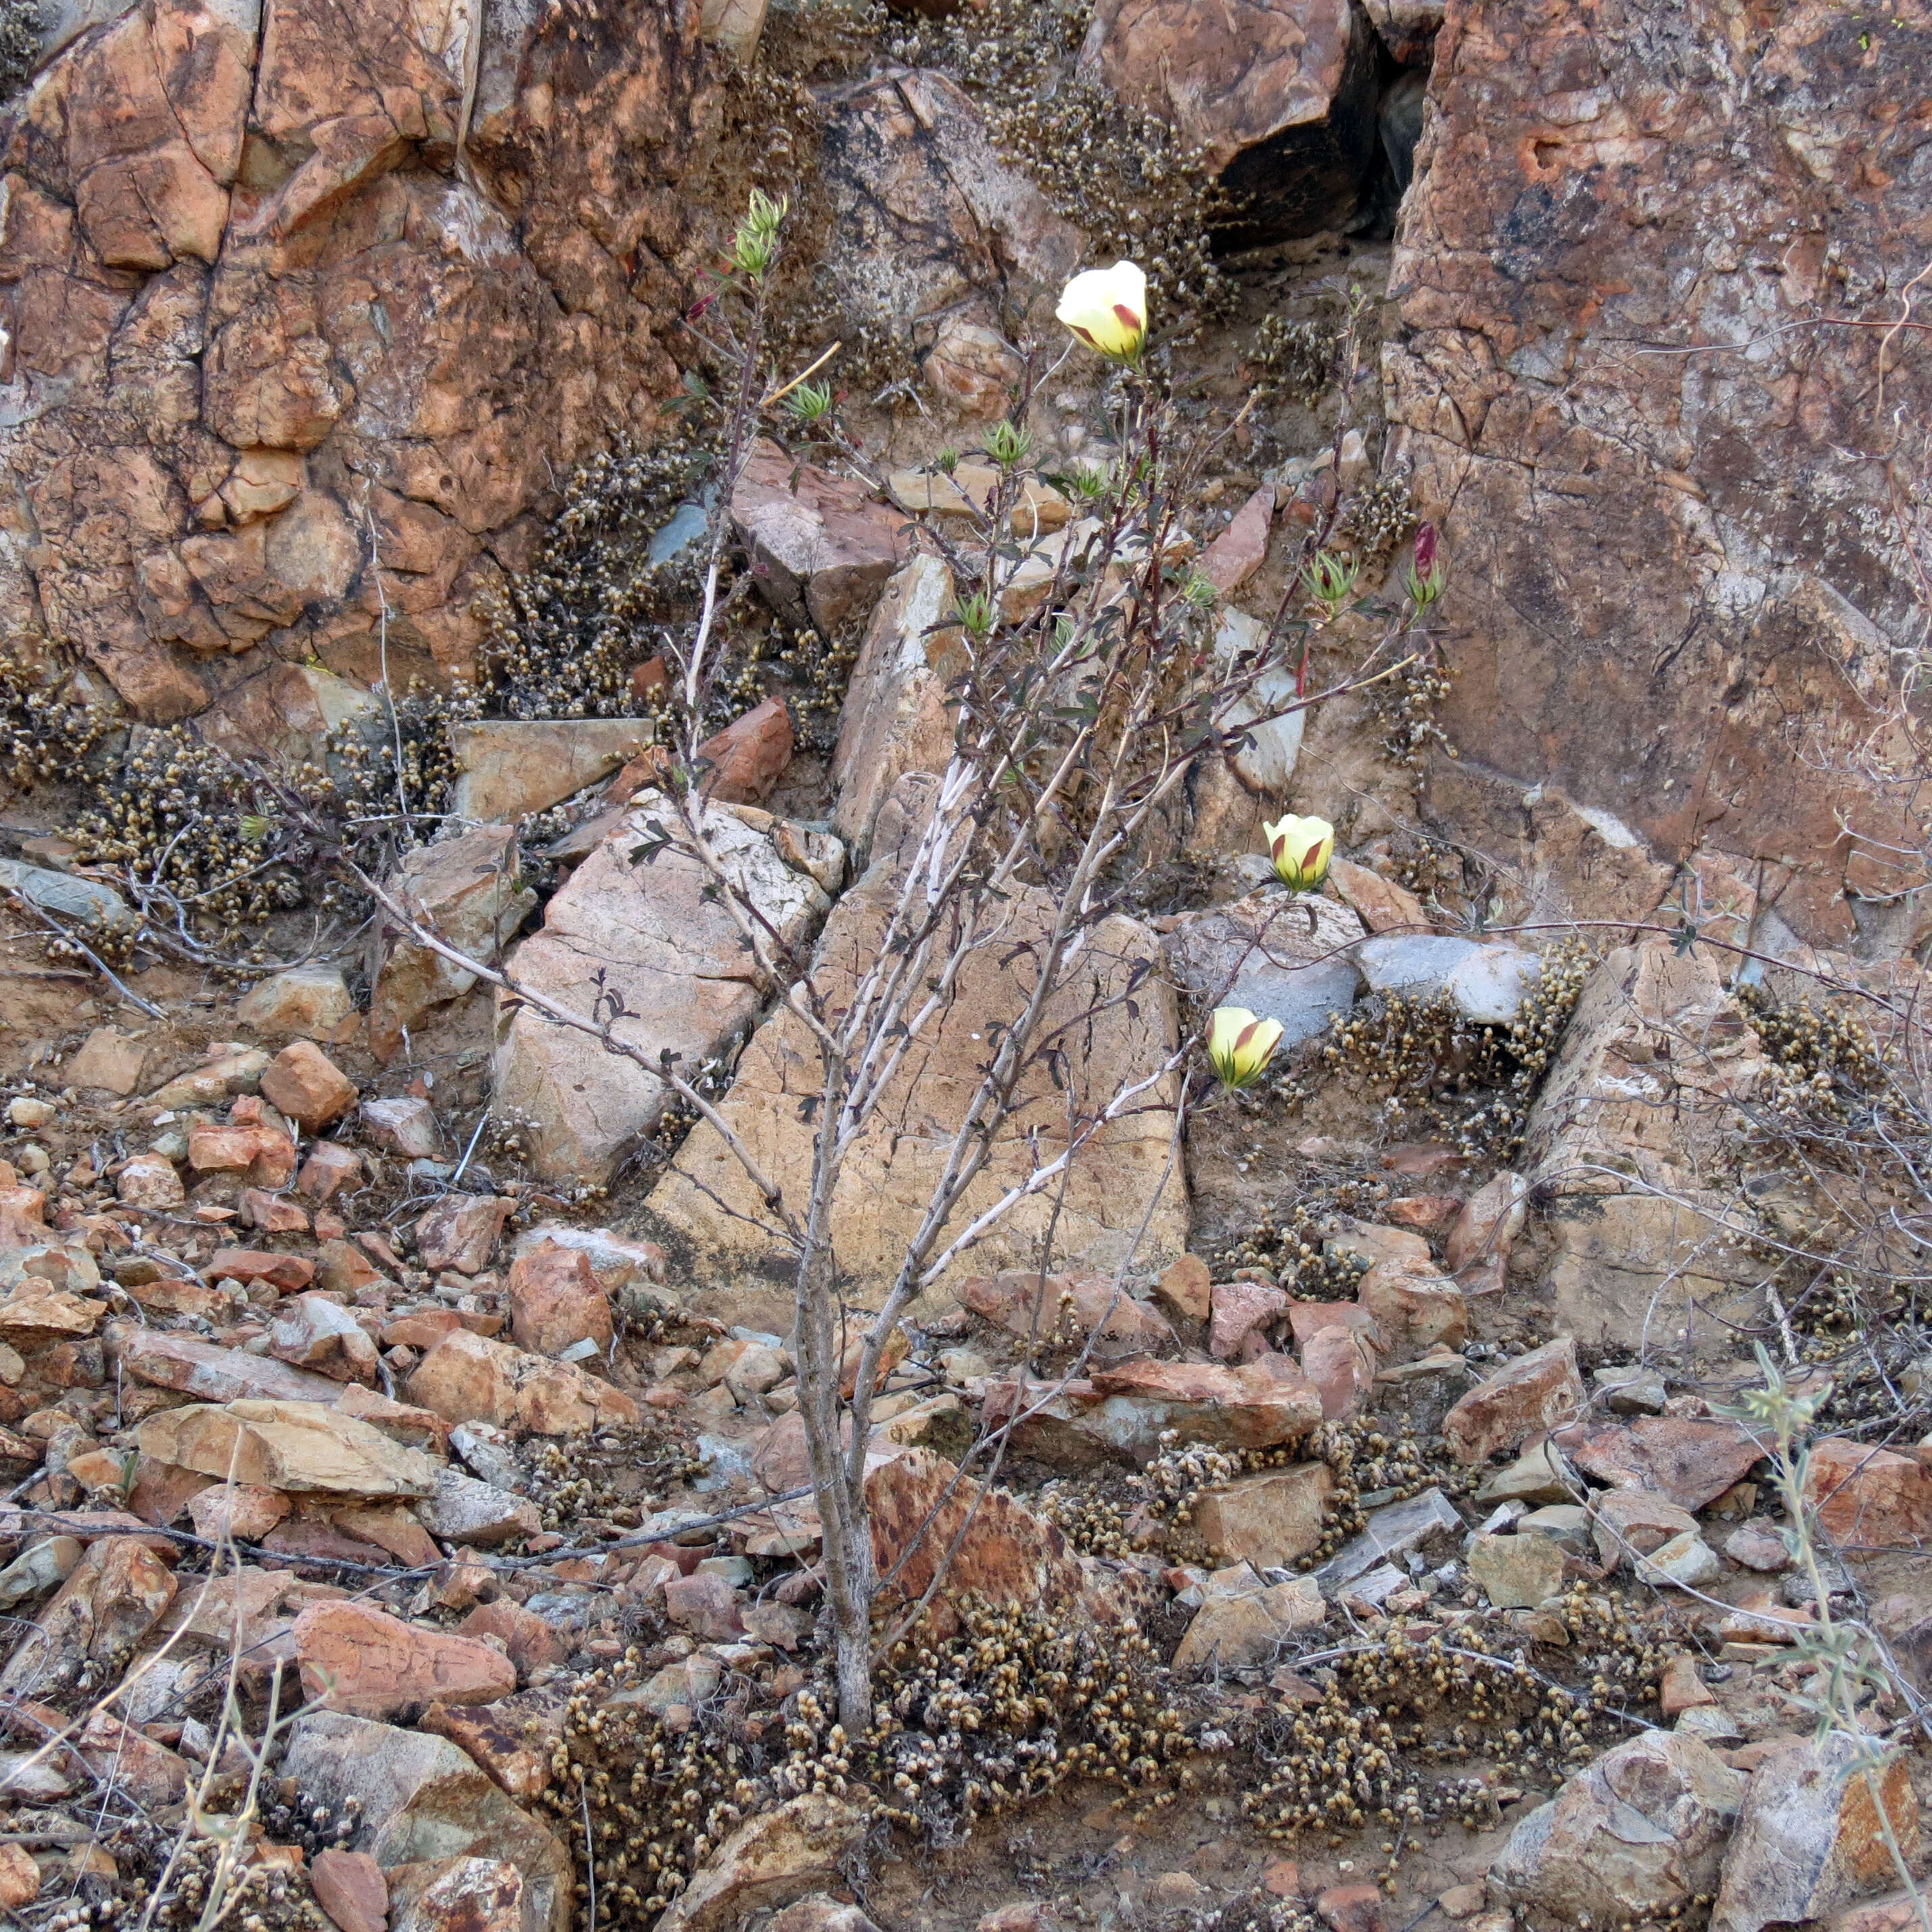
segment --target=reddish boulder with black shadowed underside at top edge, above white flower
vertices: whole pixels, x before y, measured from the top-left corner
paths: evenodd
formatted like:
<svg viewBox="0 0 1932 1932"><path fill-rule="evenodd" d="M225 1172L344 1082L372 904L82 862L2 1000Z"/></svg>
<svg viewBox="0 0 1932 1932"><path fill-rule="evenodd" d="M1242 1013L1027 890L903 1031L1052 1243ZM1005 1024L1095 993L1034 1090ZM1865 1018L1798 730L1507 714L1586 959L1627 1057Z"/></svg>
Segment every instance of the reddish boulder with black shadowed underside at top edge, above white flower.
<svg viewBox="0 0 1932 1932"><path fill-rule="evenodd" d="M1381 46L1352 0L1099 0L1084 77L1179 128L1258 242L1347 228L1376 156Z"/></svg>

